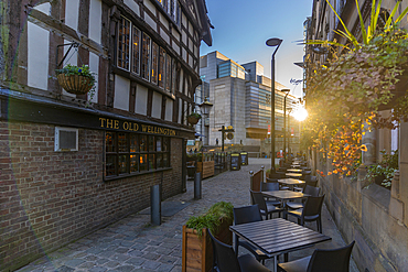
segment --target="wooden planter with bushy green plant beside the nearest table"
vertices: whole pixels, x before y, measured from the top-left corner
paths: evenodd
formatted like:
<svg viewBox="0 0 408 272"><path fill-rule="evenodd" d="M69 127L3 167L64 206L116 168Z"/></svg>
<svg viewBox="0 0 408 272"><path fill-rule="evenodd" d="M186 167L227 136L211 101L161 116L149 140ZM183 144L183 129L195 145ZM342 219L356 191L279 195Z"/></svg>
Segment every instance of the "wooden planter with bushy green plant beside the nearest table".
<svg viewBox="0 0 408 272"><path fill-rule="evenodd" d="M230 203L214 204L201 216L192 216L183 226L182 271L211 271L213 246L207 229L221 241L232 244L229 226L234 220L234 206Z"/></svg>

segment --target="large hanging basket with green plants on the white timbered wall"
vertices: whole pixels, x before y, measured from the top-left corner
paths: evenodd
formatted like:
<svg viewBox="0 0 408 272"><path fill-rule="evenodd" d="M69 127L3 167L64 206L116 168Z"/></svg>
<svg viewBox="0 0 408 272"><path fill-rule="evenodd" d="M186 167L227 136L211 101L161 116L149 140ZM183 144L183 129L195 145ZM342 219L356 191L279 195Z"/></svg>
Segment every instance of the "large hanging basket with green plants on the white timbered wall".
<svg viewBox="0 0 408 272"><path fill-rule="evenodd" d="M78 67L68 64L62 69L56 69L55 74L60 86L67 93L74 95L86 95L88 91L92 91L90 95L94 95L95 76L87 65Z"/></svg>

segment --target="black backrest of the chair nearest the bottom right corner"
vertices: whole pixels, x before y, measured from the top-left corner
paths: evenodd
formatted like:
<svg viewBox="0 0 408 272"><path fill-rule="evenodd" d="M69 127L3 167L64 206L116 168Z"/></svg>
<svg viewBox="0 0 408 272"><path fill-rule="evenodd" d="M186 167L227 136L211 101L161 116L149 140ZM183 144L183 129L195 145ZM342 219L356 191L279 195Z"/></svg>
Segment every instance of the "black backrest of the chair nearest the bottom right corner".
<svg viewBox="0 0 408 272"><path fill-rule="evenodd" d="M340 249L314 250L308 265L308 272L348 272L353 246L354 241Z"/></svg>

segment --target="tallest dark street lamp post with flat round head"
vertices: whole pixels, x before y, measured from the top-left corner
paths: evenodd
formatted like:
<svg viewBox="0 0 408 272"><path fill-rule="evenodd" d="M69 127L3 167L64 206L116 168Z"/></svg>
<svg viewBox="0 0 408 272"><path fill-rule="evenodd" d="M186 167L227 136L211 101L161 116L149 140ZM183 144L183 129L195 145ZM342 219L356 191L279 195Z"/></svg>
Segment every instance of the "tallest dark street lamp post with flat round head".
<svg viewBox="0 0 408 272"><path fill-rule="evenodd" d="M275 174L275 54L277 53L280 44L283 40L278 37L269 39L266 44L268 46L275 47L271 57L271 88L270 88L270 173Z"/></svg>

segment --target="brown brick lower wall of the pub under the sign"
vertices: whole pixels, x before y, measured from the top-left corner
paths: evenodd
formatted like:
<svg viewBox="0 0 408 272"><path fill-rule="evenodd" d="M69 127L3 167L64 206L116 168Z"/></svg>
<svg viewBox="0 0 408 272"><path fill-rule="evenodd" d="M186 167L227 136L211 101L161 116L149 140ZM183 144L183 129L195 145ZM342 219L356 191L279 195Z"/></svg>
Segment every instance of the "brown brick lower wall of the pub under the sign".
<svg viewBox="0 0 408 272"><path fill-rule="evenodd" d="M171 140L173 170L103 182L104 131L79 130L78 152L54 152L54 126L0 121L0 271L181 193L182 139Z"/></svg>

